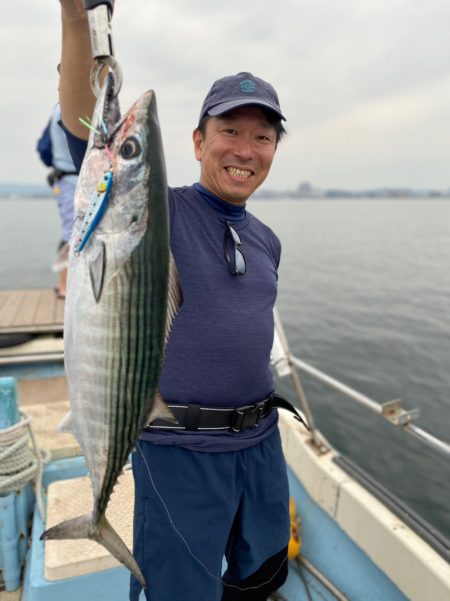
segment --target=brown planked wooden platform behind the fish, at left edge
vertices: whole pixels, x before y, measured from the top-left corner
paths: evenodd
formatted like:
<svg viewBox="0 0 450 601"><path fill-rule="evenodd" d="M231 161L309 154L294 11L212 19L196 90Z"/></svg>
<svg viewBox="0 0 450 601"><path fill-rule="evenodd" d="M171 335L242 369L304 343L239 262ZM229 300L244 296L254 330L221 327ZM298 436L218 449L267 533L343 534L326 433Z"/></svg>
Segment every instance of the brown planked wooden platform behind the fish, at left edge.
<svg viewBox="0 0 450 601"><path fill-rule="evenodd" d="M0 334L62 332L64 300L52 289L0 291Z"/></svg>

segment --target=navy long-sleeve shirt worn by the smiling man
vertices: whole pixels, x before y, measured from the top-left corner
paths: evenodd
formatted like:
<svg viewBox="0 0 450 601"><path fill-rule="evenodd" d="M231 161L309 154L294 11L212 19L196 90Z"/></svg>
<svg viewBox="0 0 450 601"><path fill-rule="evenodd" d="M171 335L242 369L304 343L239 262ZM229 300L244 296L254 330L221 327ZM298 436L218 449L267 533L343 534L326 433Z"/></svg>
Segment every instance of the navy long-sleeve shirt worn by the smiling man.
<svg viewBox="0 0 450 601"><path fill-rule="evenodd" d="M68 134L77 166L86 143ZM167 402L239 407L273 392L270 351L281 245L245 207L198 184L169 188L171 250L183 291L160 377ZM247 271L232 275L224 258L226 222L238 232ZM199 451L238 450L268 436L277 413L234 432L144 431L141 438Z"/></svg>

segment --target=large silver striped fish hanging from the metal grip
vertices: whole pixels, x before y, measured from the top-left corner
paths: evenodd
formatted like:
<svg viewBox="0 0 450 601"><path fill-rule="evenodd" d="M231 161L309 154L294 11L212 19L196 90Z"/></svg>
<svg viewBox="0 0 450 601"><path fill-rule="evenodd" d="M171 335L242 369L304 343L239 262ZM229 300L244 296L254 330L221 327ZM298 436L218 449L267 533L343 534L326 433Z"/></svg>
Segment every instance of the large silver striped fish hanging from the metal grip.
<svg viewBox="0 0 450 601"><path fill-rule="evenodd" d="M41 538L96 540L145 586L105 511L140 431L170 418L157 388L181 292L155 96L146 92L120 119L111 85L97 100L78 179L64 323L66 429L86 458L94 507Z"/></svg>

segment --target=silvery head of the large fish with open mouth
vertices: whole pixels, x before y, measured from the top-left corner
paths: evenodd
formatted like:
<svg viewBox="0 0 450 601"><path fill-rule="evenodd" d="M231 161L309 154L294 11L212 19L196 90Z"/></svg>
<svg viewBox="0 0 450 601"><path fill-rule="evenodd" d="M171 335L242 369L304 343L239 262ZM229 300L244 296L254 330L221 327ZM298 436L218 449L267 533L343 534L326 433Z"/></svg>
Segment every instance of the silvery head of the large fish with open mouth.
<svg viewBox="0 0 450 601"><path fill-rule="evenodd" d="M102 88L92 119L78 179L74 229L79 233L102 179L112 174L104 214L86 250L95 251L96 242L113 236L119 256L122 247L129 254L139 243L149 215L155 221L167 213L167 180L154 92L145 92L120 118L117 99L111 97L108 85L107 81ZM163 217L167 221L167 215Z"/></svg>

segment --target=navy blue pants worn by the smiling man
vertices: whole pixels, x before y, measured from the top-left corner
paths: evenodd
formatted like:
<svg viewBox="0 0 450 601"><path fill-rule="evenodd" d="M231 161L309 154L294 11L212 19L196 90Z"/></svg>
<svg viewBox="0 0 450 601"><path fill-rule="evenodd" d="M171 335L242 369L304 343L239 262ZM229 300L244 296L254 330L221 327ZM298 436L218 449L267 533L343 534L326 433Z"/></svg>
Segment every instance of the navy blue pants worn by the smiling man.
<svg viewBox="0 0 450 601"><path fill-rule="evenodd" d="M289 490L278 429L226 453L139 441L133 474L147 601L263 601L284 582ZM140 592L131 577L130 601Z"/></svg>

